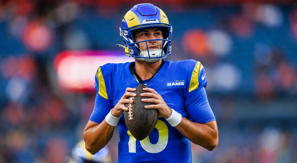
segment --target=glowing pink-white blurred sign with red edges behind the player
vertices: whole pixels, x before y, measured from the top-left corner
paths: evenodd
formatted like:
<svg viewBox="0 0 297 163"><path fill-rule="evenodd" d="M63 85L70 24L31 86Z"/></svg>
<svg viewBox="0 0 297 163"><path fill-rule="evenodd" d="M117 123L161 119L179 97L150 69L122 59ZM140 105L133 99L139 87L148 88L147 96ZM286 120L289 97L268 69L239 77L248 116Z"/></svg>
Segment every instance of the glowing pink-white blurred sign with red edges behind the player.
<svg viewBox="0 0 297 163"><path fill-rule="evenodd" d="M64 91L94 92L95 75L106 63L134 61L123 51L64 51L54 61L57 81Z"/></svg>

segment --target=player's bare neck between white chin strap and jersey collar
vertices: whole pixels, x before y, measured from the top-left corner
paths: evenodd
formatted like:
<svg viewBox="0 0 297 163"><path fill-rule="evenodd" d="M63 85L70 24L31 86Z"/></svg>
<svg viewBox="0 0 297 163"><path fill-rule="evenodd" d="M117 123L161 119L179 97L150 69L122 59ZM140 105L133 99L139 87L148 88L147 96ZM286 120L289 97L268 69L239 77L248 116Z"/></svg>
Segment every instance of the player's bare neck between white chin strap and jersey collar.
<svg viewBox="0 0 297 163"><path fill-rule="evenodd" d="M135 71L142 80L150 79L162 67L162 60L146 62L135 59Z"/></svg>

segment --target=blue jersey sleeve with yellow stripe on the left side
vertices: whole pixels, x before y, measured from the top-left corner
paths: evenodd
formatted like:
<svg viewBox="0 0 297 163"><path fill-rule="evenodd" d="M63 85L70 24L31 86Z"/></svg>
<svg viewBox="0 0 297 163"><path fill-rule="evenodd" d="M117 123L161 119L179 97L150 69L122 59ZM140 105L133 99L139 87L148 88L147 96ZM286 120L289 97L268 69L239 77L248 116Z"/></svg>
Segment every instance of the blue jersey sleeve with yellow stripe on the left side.
<svg viewBox="0 0 297 163"><path fill-rule="evenodd" d="M94 110L90 116L90 121L101 123L109 111L113 108L113 103L108 95L108 86L106 85L101 67L98 68L95 76L95 87L97 90Z"/></svg>

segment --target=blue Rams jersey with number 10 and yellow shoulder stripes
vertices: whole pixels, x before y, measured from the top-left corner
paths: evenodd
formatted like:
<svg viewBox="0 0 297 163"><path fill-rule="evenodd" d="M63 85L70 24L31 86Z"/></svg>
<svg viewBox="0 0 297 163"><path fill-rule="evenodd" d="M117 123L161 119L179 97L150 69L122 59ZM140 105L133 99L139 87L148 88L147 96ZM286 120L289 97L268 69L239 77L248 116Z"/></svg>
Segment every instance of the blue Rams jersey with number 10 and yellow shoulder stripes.
<svg viewBox="0 0 297 163"><path fill-rule="evenodd" d="M197 123L214 121L208 104L207 79L195 60L162 61L161 69L146 86L157 91L167 105ZM129 71L130 63L108 63L98 68L95 77L97 96L90 121L101 123L124 95L127 87L140 83ZM119 162L192 162L190 141L159 117L156 127L144 140L136 140L121 116L119 123Z"/></svg>

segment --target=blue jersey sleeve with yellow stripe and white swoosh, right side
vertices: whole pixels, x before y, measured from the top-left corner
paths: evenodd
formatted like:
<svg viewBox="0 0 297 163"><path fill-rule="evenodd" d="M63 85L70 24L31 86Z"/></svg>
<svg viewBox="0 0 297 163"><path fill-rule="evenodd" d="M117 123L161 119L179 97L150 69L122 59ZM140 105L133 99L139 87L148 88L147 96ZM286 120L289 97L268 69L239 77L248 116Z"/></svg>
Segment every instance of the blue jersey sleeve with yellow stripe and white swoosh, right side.
<svg viewBox="0 0 297 163"><path fill-rule="evenodd" d="M193 66L195 64L195 66ZM185 107L192 122L207 123L214 121L215 116L209 106L205 87L207 85L206 72L198 61L190 60L192 69L187 72L187 92Z"/></svg>

